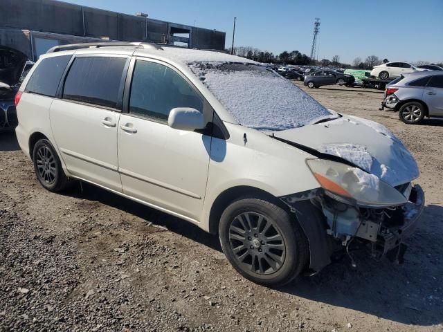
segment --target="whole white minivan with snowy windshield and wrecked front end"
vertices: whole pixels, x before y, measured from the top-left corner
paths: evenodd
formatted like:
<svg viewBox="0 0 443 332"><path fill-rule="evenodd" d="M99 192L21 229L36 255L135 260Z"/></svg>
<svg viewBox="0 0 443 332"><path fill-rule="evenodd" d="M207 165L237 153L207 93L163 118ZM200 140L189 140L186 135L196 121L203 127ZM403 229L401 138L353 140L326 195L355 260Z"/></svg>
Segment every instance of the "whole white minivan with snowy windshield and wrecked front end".
<svg viewBox="0 0 443 332"><path fill-rule="evenodd" d="M20 147L47 190L80 179L195 223L260 284L356 244L401 260L424 205L417 164L388 129L241 57L57 46L16 103Z"/></svg>

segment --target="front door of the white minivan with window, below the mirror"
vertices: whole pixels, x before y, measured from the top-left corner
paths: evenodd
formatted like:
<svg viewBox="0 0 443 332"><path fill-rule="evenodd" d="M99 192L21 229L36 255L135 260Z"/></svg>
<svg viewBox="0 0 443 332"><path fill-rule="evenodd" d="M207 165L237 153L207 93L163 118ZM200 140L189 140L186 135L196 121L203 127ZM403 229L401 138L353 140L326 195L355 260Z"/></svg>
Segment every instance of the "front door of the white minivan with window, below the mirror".
<svg viewBox="0 0 443 332"><path fill-rule="evenodd" d="M168 126L174 107L192 107L212 118L195 87L161 62L133 59L125 89L127 113L118 124L118 170L123 192L156 208L199 220L208 178L209 136Z"/></svg>

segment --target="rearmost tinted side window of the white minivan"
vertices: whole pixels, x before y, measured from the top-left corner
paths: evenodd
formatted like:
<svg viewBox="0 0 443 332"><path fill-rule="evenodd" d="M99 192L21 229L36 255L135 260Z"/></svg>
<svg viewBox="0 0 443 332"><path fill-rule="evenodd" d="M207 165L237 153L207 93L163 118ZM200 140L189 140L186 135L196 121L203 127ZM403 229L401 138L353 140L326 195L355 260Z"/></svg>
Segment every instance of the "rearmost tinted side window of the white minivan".
<svg viewBox="0 0 443 332"><path fill-rule="evenodd" d="M71 55L42 59L30 77L25 91L55 97L69 59L71 59Z"/></svg>

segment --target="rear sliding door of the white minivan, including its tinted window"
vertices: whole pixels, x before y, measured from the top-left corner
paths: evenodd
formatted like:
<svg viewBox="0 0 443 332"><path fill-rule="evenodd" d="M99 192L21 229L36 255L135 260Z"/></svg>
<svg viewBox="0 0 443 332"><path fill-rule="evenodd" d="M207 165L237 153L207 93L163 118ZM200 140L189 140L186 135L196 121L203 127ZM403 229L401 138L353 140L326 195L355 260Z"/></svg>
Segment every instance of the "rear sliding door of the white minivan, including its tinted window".
<svg viewBox="0 0 443 332"><path fill-rule="evenodd" d="M50 111L55 142L69 172L118 192L118 100L127 59L75 57L62 99L55 99Z"/></svg>

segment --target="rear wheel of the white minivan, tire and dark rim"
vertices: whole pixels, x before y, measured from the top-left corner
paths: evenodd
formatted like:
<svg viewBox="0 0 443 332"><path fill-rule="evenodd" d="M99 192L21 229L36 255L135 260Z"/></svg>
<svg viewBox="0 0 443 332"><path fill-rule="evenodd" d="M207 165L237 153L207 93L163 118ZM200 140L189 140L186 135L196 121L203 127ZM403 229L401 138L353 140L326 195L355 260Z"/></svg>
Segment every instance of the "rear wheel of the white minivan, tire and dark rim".
<svg viewBox="0 0 443 332"><path fill-rule="evenodd" d="M60 192L69 184L62 163L51 142L46 139L37 141L33 149L34 171L39 183L50 192Z"/></svg>

